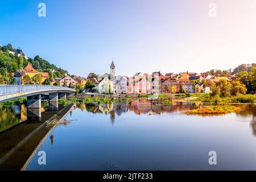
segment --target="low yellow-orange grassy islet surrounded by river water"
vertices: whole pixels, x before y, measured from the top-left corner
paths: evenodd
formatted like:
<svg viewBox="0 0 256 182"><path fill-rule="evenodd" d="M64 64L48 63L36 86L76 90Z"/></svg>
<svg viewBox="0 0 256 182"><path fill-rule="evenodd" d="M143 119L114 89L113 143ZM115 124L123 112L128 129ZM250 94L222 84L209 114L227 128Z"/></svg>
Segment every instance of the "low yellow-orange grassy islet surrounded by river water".
<svg viewBox="0 0 256 182"><path fill-rule="evenodd" d="M238 111L240 111L240 108L236 106L218 105L185 111L185 114L227 114L237 113Z"/></svg>

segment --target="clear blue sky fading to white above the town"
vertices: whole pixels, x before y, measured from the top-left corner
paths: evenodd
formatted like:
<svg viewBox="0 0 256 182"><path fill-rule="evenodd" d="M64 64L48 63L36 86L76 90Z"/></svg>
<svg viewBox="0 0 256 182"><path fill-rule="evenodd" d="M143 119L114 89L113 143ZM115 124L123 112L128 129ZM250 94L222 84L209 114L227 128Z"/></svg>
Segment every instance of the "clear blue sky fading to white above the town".
<svg viewBox="0 0 256 182"><path fill-rule="evenodd" d="M81 76L109 72L112 59L126 75L203 72L256 62L255 22L254 0L2 1L0 44Z"/></svg>

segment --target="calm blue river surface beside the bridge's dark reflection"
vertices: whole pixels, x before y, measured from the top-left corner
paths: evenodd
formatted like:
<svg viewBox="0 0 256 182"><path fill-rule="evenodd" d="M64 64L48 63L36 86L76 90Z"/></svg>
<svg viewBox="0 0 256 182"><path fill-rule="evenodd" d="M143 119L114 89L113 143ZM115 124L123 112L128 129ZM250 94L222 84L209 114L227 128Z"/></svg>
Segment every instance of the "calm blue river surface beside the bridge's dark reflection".
<svg viewBox="0 0 256 182"><path fill-rule="evenodd" d="M186 110L201 104L137 100L77 104L68 125L49 130L27 170L256 169L256 106L241 113L200 116ZM150 114L154 113L154 114ZM0 135L1 139L1 135ZM217 152L217 165L208 163Z"/></svg>

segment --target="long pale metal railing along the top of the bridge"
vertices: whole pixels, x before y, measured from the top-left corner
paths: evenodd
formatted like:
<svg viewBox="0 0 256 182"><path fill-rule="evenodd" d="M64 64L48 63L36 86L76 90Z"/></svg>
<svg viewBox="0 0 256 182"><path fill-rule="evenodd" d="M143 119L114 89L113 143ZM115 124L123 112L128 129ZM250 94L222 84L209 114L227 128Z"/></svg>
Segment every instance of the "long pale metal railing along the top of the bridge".
<svg viewBox="0 0 256 182"><path fill-rule="evenodd" d="M63 90L75 92L75 89L65 86L52 85L0 85L0 96L14 93L30 92L35 90Z"/></svg>

